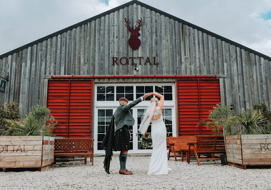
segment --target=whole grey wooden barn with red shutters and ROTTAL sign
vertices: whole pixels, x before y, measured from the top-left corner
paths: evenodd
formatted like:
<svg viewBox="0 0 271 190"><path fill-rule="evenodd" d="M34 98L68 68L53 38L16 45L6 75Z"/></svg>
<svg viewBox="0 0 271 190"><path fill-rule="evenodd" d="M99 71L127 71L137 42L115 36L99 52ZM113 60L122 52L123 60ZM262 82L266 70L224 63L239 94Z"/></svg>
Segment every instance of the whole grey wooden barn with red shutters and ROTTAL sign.
<svg viewBox="0 0 271 190"><path fill-rule="evenodd" d="M0 104L47 105L55 134L92 137L96 154L120 97L163 94L168 136L212 133L197 124L219 102L271 104L270 57L138 0L0 55L0 76ZM137 133L148 103L132 109L129 153L151 151Z"/></svg>

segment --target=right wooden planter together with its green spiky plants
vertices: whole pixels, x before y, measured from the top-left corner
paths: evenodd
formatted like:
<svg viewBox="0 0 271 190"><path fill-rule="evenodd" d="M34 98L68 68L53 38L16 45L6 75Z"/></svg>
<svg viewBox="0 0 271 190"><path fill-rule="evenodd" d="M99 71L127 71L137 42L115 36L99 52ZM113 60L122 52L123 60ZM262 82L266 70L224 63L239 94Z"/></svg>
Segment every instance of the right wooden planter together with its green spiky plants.
<svg viewBox="0 0 271 190"><path fill-rule="evenodd" d="M267 105L265 108L265 113L270 112ZM271 121L262 112L257 108L254 111L246 110L230 119L232 127L238 132L225 136L229 165L244 169L247 165L271 165L268 156L271 154Z"/></svg>

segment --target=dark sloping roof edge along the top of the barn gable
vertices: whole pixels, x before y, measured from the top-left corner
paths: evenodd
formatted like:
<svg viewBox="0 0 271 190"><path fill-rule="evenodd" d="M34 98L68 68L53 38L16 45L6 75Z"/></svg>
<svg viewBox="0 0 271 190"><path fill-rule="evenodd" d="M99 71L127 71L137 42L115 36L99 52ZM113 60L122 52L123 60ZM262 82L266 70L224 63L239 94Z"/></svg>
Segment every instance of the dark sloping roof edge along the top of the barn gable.
<svg viewBox="0 0 271 190"><path fill-rule="evenodd" d="M64 33L64 32L66 32L66 31L68 31L68 30L72 30L72 29L77 28L77 27L79 27L79 26L81 26L81 25L87 24L88 22L91 22L91 21L93 21L93 20L96 20L97 18L100 18L100 17L102 17L102 16L109 15L109 14L115 12L115 11L118 11L118 10L120 10L120 9L123 9L123 8L125 8L125 7L127 7L127 6L129 6L129 5L134 4L134 3L136 3L136 4L138 4L138 5L141 5L141 6L145 7L145 8L147 8L147 9L150 9L151 11L154 11L154 12L156 12L156 13L159 13L160 15L167 16L167 17L169 17L169 18L171 18L171 19L173 19L173 20L175 20L175 21L178 21L178 22L180 22L180 23L182 23L182 24L184 24L184 25L187 25L187 26L189 26L189 27L191 27L191 28L200 30L200 31L202 31L202 32L204 32L204 33L206 33L206 34L208 34L208 35L210 35L210 36L213 36L213 37L215 37L215 38L218 38L218 39L220 39L220 40L222 40L222 41L224 41L224 42L226 42L226 43L235 45L235 46L237 46L237 47L239 47L239 48L241 48L241 49L244 49L245 51L251 52L251 53L253 53L253 54L255 54L255 55L259 56L259 57L262 57L262 58L265 58L265 59L268 59L268 60L271 61L271 57L269 57L269 56L266 56L266 55L264 55L264 54L262 54L262 53L260 53L260 52L257 52L257 51L255 51L255 50L253 50L253 49L251 49L251 48L248 48L248 47L246 47L246 46L244 46L244 45L238 44L238 43L236 43L236 42L234 42L234 41L231 41L231 40L229 40L229 39L227 39L227 38L224 38L223 36L220 36L220 35L218 35L218 34L215 34L215 33L211 32L211 31L209 31L209 30L207 30L207 29L203 29L203 28L201 28L201 27L198 27L198 26L196 26L196 25L193 25L193 24L191 24L190 22L187 22L187 21L185 21L185 20L182 20L182 19L180 19L180 18L178 18L178 17L176 17L176 16L173 16L173 15L170 15L170 14L165 13L165 12L163 12L163 11L160 11L159 9L156 9L156 8L154 8L154 7L152 7L152 6L149 6L149 5L147 5L147 4L143 3L143 2L140 2L140 1L138 1L138 0L131 0L131 1L129 1L129 2L125 3L125 4L123 4L123 5L120 5L120 6L118 6L118 7L113 8L113 9L111 9L111 10L109 10L109 11L106 11L106 12L101 13L101 14L99 14L99 15L93 16L93 17L91 17L91 18L89 18L89 19L86 19L86 20L84 20L84 21L81 21L81 22L79 22L79 23L77 23L77 24L74 24L74 25L72 25L72 26L70 26L70 27L67 27L67 28L65 28L65 29L61 29L61 30L59 30L59 31L57 31L57 32L54 32L54 33L52 33L52 34L49 34L48 36L45 36L45 37L40 38L40 39L38 39L38 40L35 40L35 41L33 41L33 42L29 43L29 44L25 44L25 45L23 45L23 46L21 46L21 47L18 47L18 48L16 48L16 49L12 50L12 51L9 51L9 52L7 52L7 53L5 53L5 54L0 55L0 58L4 58L4 57L7 57L7 56L9 56L9 55L12 55L12 54L14 54L14 53L16 53L16 52L18 52L18 51L21 51L21 50L23 50L23 49L25 49L25 48L28 48L28 47L32 46L32 45L34 45L34 44L38 44L38 43L40 43L40 42L43 42L43 41L45 41L45 40L48 40L49 38L52 38L52 37L57 36L57 35L59 35L59 34L62 34L62 33Z"/></svg>

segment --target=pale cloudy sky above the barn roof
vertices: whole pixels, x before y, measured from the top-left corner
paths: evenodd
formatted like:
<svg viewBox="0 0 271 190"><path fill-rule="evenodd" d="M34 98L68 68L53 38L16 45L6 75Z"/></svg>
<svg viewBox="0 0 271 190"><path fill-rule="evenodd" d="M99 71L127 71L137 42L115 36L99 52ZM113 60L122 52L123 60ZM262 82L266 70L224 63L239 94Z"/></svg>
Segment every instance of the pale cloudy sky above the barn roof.
<svg viewBox="0 0 271 190"><path fill-rule="evenodd" d="M0 55L130 0L0 0ZM271 57L271 0L140 0Z"/></svg>

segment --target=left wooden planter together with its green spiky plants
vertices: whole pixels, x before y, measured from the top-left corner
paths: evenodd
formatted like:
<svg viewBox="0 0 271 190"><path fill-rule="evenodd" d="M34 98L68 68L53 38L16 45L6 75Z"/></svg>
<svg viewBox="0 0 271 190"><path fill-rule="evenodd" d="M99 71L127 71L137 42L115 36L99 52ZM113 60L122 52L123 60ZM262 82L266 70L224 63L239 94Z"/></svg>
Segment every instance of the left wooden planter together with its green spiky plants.
<svg viewBox="0 0 271 190"><path fill-rule="evenodd" d="M16 110L17 107L14 107ZM2 115L8 113L1 110ZM55 125L50 110L34 106L26 118L19 121L3 118L5 129L0 136L0 168L39 168L40 171L52 167L54 161L54 137L49 134ZM7 133L6 131L9 131ZM10 134L12 136L10 136ZM43 136L44 134L50 135Z"/></svg>

